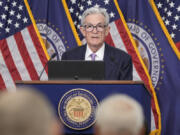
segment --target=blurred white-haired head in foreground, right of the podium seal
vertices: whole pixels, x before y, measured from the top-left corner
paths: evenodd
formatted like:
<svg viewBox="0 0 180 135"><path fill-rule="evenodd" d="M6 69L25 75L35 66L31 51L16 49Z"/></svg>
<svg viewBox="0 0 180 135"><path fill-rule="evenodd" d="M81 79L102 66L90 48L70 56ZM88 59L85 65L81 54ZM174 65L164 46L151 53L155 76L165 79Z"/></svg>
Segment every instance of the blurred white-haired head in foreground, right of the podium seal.
<svg viewBox="0 0 180 135"><path fill-rule="evenodd" d="M112 95L104 99L96 110L96 126L102 134L137 135L143 128L141 105L127 95Z"/></svg>

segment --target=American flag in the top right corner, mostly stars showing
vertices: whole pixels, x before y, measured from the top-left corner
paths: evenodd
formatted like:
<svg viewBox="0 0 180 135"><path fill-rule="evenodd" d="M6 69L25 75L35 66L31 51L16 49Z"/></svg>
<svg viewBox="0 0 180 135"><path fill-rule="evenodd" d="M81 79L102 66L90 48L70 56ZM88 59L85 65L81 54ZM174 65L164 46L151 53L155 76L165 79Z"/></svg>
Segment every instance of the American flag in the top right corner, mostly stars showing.
<svg viewBox="0 0 180 135"><path fill-rule="evenodd" d="M180 0L155 0L168 32L180 51Z"/></svg>

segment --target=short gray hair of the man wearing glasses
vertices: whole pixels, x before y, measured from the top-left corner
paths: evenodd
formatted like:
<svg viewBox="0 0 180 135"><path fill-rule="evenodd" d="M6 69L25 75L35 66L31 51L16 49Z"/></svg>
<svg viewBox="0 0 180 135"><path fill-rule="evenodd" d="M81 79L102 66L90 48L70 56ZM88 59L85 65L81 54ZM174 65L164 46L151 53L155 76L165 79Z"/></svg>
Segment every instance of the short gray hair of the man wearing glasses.
<svg viewBox="0 0 180 135"><path fill-rule="evenodd" d="M82 14L81 26L84 25L85 18L91 14L102 14L105 18L105 25L109 24L109 14L106 12L105 8L91 7L91 8L86 9L84 13Z"/></svg>

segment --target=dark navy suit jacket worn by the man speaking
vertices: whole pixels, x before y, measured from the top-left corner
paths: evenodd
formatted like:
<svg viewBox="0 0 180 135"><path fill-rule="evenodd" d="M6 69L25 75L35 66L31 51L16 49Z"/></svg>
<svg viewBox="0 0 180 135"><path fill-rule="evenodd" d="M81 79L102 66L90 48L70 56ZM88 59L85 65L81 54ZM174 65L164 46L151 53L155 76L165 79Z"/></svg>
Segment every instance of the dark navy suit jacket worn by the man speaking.
<svg viewBox="0 0 180 135"><path fill-rule="evenodd" d="M86 46L65 52L62 60L85 60ZM132 60L124 51L105 44L105 80L132 80Z"/></svg>

